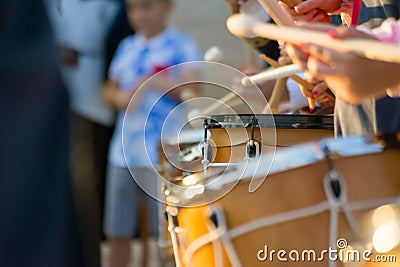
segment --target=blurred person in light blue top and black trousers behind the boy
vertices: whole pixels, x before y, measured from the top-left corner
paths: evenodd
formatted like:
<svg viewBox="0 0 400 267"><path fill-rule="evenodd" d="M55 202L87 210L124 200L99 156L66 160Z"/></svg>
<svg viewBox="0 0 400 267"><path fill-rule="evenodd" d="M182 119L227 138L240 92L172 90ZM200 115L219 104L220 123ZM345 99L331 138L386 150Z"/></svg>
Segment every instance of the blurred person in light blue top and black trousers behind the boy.
<svg viewBox="0 0 400 267"><path fill-rule="evenodd" d="M120 3L114 0L49 1L60 46L62 75L71 99L71 163L75 204L86 266L100 266L102 211L114 110L104 104L107 29Z"/></svg>

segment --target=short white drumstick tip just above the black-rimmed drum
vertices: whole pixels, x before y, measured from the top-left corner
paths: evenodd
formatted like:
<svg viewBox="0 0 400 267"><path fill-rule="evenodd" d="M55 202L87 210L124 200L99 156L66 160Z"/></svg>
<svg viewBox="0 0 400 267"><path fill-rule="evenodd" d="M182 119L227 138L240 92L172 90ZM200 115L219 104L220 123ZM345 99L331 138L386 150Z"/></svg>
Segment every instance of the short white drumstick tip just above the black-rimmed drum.
<svg viewBox="0 0 400 267"><path fill-rule="evenodd" d="M282 66L282 67L276 68L276 69L267 69L258 74L255 74L255 75L252 75L249 77L243 77L242 85L243 86L252 86L253 83L262 84L266 81L271 81L271 80L276 80L276 79L291 76L299 71L300 71L299 67L295 64Z"/></svg>

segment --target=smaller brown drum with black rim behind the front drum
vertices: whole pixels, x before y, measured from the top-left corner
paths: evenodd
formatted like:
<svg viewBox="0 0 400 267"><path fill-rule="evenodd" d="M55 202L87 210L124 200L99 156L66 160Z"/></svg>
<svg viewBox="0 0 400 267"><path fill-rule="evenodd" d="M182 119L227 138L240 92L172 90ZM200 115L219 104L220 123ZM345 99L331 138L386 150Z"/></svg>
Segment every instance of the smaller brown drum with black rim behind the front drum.
<svg viewBox="0 0 400 267"><path fill-rule="evenodd" d="M212 162L235 162L255 154L333 136L332 115L215 115L207 121ZM253 137L252 137L253 135ZM254 151L253 151L254 152Z"/></svg>

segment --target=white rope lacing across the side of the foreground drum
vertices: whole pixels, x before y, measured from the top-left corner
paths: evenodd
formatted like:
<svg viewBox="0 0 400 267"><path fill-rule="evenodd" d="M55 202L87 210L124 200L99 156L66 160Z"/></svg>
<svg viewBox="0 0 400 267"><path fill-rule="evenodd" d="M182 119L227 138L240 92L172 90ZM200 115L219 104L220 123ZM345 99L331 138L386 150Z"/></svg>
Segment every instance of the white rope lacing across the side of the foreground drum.
<svg viewBox="0 0 400 267"><path fill-rule="evenodd" d="M400 196L394 198L384 198L384 199L370 199L356 202L342 202L339 205L333 204L331 201L327 200L321 202L319 204L291 210L288 212L283 212L276 215L270 215L263 218L256 219L254 221L250 221L248 223L236 226L232 229L228 229L225 219L218 221L218 225L215 229L211 230L209 233L200 236L198 239L193 241L186 249L183 259L184 262L190 263L193 255L200 248L213 243L216 240L221 240L224 248L228 254L228 258L232 263L233 267L241 267L241 263L239 257L233 247L232 240L238 236L247 234L249 232L255 231L257 229L269 227L272 225L280 224L283 222L298 220L310 216L317 215L319 213L330 211L330 244L331 247L336 246L336 238L339 226L339 212L343 210L343 212L349 215L346 215L346 218L352 220L353 217L351 212L374 209L382 205L392 204L392 203L400 203ZM212 206L212 209L219 209L218 207ZM221 210L222 212L222 210ZM351 222L349 222L351 223ZM333 242L334 240L334 242ZM333 244L332 244L333 243ZM330 267L336 266L335 262L330 262Z"/></svg>

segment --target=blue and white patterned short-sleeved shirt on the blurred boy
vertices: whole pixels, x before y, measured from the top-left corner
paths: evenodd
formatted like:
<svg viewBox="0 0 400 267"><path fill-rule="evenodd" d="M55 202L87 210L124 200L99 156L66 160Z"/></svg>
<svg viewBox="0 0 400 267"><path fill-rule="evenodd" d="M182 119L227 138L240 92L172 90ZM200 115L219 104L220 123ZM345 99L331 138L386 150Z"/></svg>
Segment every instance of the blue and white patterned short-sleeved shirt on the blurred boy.
<svg viewBox="0 0 400 267"><path fill-rule="evenodd" d="M175 29L167 28L150 40L141 34L122 40L109 76L119 83L122 90L130 92L143 77L176 64L199 60L201 54L196 42ZM179 73L173 74L179 79ZM162 129L170 111L178 104L176 99L150 88L136 110L128 111L126 116L125 112L120 112L110 144L109 163L129 168L158 164L161 130L163 133L177 133L177 125L186 119L184 112L174 112L173 121L176 123L168 123Z"/></svg>

